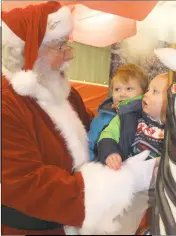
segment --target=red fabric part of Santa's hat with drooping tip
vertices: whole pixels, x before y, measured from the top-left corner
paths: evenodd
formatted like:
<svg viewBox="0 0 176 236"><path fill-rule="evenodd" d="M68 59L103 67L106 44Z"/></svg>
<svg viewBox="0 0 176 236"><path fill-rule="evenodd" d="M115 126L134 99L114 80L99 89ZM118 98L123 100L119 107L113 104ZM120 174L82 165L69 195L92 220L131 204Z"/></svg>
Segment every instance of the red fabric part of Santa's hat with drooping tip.
<svg viewBox="0 0 176 236"><path fill-rule="evenodd" d="M2 12L2 20L25 41L25 70L32 70L37 59L38 49L46 32L48 14L56 12L60 7L59 2L47 2Z"/></svg>

